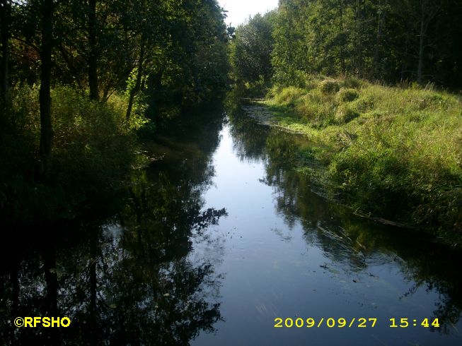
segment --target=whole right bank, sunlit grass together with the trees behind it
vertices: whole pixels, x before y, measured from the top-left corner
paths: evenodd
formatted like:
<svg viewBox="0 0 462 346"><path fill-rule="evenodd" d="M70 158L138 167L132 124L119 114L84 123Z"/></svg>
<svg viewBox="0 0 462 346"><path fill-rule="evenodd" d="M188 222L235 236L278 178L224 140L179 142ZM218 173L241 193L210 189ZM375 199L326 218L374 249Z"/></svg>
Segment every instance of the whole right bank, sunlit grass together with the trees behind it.
<svg viewBox="0 0 462 346"><path fill-rule="evenodd" d="M451 0L281 0L236 28L236 95L265 96L250 115L312 141L293 166L324 195L461 244L461 15Z"/></svg>

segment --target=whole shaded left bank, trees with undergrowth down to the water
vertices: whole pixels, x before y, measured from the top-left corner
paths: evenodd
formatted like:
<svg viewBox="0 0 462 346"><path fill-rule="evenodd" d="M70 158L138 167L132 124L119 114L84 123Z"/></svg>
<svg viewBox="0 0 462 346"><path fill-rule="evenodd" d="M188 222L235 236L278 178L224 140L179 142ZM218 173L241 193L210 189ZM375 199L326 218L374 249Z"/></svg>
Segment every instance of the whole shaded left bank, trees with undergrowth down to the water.
<svg viewBox="0 0 462 346"><path fill-rule="evenodd" d="M140 131L224 91L224 18L214 0L1 0L1 219L73 217L137 165Z"/></svg>

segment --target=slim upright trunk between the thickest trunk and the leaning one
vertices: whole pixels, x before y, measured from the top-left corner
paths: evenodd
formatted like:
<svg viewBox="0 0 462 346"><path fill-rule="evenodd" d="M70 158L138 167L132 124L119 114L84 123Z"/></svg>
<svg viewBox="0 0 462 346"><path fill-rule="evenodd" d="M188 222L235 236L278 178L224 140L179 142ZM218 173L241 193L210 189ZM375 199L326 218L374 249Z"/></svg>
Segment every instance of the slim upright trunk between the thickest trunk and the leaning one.
<svg viewBox="0 0 462 346"><path fill-rule="evenodd" d="M88 0L88 86L90 100L98 100L98 52L96 47L96 0Z"/></svg>

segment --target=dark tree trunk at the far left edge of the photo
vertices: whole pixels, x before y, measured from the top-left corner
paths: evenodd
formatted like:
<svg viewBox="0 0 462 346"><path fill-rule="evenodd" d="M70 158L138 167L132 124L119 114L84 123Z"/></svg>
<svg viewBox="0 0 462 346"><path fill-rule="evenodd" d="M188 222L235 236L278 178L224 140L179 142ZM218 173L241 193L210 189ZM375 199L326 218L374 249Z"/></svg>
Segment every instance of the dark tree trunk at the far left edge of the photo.
<svg viewBox="0 0 462 346"><path fill-rule="evenodd" d="M9 55L9 39L10 39L10 16L11 5L8 0L0 0L0 20L1 20L1 71L0 71L0 105L6 107L9 100L9 70L8 70L8 55Z"/></svg>

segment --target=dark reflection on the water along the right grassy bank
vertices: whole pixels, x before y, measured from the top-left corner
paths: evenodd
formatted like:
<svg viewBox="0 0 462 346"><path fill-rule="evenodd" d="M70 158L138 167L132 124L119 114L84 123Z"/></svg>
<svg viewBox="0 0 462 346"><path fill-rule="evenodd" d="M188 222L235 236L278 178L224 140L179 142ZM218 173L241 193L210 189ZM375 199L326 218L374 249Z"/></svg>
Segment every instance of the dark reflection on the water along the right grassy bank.
<svg viewBox="0 0 462 346"><path fill-rule="evenodd" d="M433 316L428 317L439 318L441 327L431 329L462 337L460 252L435 244L418 230L411 232L364 220L326 200L325 191L320 193L309 175L295 169L299 162L297 148L310 145L306 138L257 124L238 107L231 109L229 118L236 156L241 161L264 162L265 178L260 183L273 188L276 213L288 229L275 230L282 241L290 241L291 230L301 225L306 244L321 249L330 261L321 267L328 273L354 273L357 279L352 283L359 291L369 290L368 280L377 279L371 268L392 263L412 283L397 298L405 299L417 290L436 292L439 298ZM344 278L338 275L339 280Z"/></svg>

